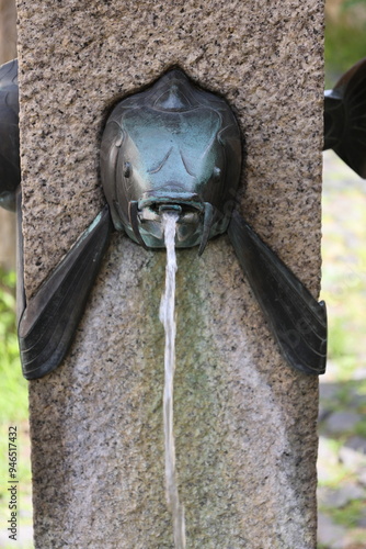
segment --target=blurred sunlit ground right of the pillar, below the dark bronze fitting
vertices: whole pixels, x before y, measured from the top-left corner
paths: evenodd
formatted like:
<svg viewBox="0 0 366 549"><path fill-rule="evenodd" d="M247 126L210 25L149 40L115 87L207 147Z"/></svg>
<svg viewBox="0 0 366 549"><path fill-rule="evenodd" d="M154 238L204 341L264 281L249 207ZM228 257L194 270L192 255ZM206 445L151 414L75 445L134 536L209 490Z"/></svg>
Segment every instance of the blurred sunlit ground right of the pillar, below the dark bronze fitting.
<svg viewBox="0 0 366 549"><path fill-rule="evenodd" d="M366 181L324 154L318 549L366 548Z"/></svg>

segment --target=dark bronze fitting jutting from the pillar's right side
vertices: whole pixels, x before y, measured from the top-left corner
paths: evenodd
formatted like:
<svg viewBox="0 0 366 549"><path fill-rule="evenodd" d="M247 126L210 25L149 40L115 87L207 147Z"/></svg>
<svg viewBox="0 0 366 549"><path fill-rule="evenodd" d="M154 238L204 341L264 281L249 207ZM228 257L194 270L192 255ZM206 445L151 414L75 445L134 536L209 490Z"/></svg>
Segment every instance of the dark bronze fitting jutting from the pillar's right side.
<svg viewBox="0 0 366 549"><path fill-rule="evenodd" d="M324 92L324 147L366 179L366 58Z"/></svg>

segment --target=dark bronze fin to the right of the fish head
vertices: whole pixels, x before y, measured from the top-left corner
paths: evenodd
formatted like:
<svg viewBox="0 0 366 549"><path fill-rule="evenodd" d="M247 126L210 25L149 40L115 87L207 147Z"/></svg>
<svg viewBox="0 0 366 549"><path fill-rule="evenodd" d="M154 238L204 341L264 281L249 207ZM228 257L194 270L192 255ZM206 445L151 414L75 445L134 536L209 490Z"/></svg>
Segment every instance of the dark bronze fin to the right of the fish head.
<svg viewBox="0 0 366 549"><path fill-rule="evenodd" d="M327 311L238 212L228 234L279 349L305 373L325 371Z"/></svg>

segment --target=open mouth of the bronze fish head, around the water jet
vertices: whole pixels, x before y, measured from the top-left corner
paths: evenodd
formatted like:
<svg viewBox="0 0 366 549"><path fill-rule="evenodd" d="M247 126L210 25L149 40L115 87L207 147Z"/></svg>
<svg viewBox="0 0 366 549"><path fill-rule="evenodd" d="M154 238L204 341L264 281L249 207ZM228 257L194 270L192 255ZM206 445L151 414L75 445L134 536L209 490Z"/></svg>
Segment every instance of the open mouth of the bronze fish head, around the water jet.
<svg viewBox="0 0 366 549"><path fill-rule="evenodd" d="M129 202L129 223L136 240L145 248L164 247L163 214L175 213L175 246L191 247L199 244L202 255L215 221L214 208L197 194L157 192Z"/></svg>

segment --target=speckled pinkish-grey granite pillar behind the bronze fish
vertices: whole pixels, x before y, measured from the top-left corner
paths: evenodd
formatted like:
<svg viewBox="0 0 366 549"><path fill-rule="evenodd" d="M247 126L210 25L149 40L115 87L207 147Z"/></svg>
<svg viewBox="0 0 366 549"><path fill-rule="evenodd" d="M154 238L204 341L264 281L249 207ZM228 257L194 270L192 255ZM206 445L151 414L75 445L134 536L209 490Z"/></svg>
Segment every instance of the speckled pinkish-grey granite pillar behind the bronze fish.
<svg viewBox="0 0 366 549"><path fill-rule="evenodd" d="M317 294L320 0L19 0L27 295L104 203L117 98L180 65L224 93L241 209ZM70 356L31 382L36 548L172 548L163 489L164 253L115 234ZM318 380L278 356L226 236L179 251L175 436L187 547L316 547Z"/></svg>

